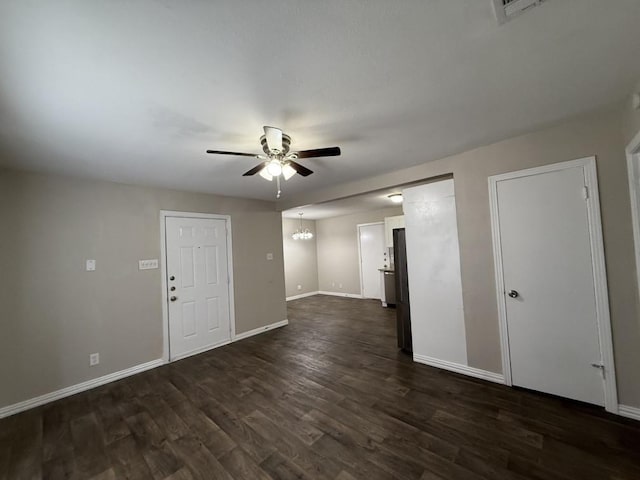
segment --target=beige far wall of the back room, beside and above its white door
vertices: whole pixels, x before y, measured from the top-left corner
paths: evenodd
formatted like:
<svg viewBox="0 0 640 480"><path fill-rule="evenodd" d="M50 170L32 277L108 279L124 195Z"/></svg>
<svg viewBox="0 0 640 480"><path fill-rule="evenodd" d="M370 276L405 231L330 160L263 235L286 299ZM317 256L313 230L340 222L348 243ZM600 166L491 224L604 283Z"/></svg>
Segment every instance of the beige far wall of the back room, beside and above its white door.
<svg viewBox="0 0 640 480"><path fill-rule="evenodd" d="M354 213L316 221L318 288L324 292L360 295L357 225L402 215L402 207ZM340 288L342 284L342 288Z"/></svg>

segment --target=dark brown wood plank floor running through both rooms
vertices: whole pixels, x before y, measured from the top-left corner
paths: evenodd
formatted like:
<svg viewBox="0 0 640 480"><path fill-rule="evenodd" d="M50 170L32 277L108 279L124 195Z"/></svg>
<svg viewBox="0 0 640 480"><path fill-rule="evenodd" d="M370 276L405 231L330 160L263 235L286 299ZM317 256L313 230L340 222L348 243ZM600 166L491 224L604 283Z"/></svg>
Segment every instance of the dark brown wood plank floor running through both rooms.
<svg viewBox="0 0 640 480"><path fill-rule="evenodd" d="M414 364L379 302L0 420L0 480L640 479L640 423Z"/></svg>

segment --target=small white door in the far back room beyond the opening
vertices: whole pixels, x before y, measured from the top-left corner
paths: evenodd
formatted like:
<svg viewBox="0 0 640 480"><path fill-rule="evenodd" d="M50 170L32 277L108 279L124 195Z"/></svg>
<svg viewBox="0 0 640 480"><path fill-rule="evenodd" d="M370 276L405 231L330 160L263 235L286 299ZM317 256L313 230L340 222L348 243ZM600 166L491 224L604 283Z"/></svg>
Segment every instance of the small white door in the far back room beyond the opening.
<svg viewBox="0 0 640 480"><path fill-rule="evenodd" d="M358 225L362 296L380 299L380 271L384 265L384 223Z"/></svg>

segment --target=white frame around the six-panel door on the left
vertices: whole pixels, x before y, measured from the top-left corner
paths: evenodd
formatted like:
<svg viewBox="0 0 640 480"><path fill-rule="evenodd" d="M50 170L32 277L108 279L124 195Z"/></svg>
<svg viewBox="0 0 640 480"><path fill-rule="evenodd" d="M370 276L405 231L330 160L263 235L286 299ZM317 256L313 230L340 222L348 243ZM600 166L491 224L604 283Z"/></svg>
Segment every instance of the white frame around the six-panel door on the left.
<svg viewBox="0 0 640 480"><path fill-rule="evenodd" d="M225 230L227 232L227 268L229 274L229 342L233 342L236 336L236 312L233 295L233 253L231 251L231 216L218 215L214 213L174 212L171 210L160 210L160 265L162 275L162 361L164 363L170 362L169 298L167 295L167 227L165 221L167 217L210 218L225 221Z"/></svg>

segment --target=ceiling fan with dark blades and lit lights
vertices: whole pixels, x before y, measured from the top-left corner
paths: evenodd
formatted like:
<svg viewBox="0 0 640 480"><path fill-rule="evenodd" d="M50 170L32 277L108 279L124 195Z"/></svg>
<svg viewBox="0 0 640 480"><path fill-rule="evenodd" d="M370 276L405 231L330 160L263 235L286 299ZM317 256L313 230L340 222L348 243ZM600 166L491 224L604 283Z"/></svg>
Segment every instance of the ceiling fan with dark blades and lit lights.
<svg viewBox="0 0 640 480"><path fill-rule="evenodd" d="M251 170L245 172L243 176L247 177L259 173L265 180L272 181L276 179L278 194L276 198L280 198L280 177L289 180L296 173L306 177L313 173L307 167L300 165L296 160L302 158L316 157L336 157L340 155L340 147L316 148L313 150L301 150L299 152L289 152L291 145L291 137L276 127L265 126L264 135L260 137L262 150L265 155L255 153L227 152L224 150L207 150L207 153L217 155L237 155L240 157L255 157L264 160Z"/></svg>

